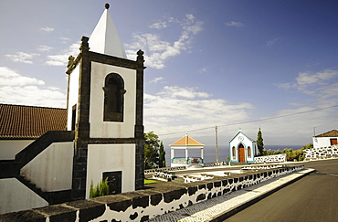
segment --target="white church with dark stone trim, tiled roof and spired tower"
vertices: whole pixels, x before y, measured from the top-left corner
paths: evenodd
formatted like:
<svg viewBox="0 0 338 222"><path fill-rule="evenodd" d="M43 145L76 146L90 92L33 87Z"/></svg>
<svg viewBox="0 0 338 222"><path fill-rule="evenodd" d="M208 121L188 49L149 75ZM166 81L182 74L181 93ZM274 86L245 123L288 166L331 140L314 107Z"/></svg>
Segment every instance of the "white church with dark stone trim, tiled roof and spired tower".
<svg viewBox="0 0 338 222"><path fill-rule="evenodd" d="M0 214L89 198L90 182L105 178L110 194L143 187L137 55L126 58L106 4L69 57L67 110L0 104Z"/></svg>

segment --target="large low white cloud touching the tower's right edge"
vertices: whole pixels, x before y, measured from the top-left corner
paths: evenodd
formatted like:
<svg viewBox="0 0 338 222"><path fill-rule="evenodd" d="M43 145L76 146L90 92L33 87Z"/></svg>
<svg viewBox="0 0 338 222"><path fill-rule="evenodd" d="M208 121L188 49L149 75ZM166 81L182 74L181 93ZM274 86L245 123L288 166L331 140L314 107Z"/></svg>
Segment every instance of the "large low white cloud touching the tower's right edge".
<svg viewBox="0 0 338 222"><path fill-rule="evenodd" d="M212 127L224 122L248 119L252 105L230 104L210 99L211 95L195 88L166 86L156 95L144 95L145 131L158 134Z"/></svg>

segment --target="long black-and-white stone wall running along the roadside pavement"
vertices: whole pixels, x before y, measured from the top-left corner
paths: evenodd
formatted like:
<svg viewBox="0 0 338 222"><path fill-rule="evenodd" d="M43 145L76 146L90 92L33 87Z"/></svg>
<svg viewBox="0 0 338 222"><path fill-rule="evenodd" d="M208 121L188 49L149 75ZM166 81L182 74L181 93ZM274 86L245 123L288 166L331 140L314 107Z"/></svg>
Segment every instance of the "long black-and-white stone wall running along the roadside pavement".
<svg viewBox="0 0 338 222"><path fill-rule="evenodd" d="M0 215L0 221L145 221L303 168L303 165L298 165L190 184L168 183L115 196Z"/></svg>

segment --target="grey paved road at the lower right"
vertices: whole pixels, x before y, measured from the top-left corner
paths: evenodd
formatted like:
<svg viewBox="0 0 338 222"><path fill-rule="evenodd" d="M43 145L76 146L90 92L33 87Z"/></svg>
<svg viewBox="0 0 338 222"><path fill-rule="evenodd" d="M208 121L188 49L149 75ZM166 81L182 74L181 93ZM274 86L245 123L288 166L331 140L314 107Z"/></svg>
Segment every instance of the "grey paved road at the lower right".
<svg viewBox="0 0 338 222"><path fill-rule="evenodd" d="M338 159L309 162L305 167L317 172L225 221L338 221Z"/></svg>

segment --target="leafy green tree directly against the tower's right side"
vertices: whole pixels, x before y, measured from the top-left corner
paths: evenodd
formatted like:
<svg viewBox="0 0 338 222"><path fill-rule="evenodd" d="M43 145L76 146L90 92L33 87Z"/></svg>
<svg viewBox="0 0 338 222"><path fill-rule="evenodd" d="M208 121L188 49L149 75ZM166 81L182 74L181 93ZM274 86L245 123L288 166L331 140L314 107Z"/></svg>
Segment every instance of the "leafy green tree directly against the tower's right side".
<svg viewBox="0 0 338 222"><path fill-rule="evenodd" d="M158 148L160 140L158 135L152 132L144 133L144 168L153 169L159 165Z"/></svg>

